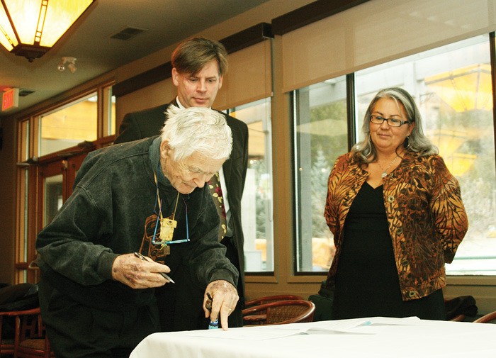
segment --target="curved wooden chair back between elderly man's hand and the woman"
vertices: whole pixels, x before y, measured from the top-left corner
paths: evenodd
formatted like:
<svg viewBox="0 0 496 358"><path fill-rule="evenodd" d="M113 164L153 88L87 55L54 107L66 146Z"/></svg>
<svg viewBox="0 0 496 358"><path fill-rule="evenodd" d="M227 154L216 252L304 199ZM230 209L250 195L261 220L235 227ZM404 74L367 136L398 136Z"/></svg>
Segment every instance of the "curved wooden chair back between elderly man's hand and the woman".
<svg viewBox="0 0 496 358"><path fill-rule="evenodd" d="M243 325L282 325L312 322L315 304L305 300L262 303L242 310Z"/></svg>

